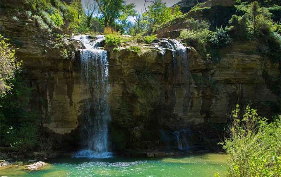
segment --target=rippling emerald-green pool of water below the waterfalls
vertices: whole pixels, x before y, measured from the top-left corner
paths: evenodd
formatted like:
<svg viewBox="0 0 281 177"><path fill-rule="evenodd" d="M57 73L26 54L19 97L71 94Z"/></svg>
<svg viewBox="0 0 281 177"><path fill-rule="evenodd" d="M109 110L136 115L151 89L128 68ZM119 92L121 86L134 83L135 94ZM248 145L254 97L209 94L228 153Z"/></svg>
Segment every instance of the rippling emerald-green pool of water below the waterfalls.
<svg viewBox="0 0 281 177"><path fill-rule="evenodd" d="M1 167L8 177L213 177L224 176L225 154L199 154L168 158L56 159L49 168L27 171L23 167Z"/></svg>

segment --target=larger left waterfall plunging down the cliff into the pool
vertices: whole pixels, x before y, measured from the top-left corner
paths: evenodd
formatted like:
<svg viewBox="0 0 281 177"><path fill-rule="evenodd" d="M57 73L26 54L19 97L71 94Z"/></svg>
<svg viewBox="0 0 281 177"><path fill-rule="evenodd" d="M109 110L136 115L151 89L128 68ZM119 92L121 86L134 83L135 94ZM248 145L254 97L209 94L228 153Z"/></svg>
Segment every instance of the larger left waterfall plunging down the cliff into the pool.
<svg viewBox="0 0 281 177"><path fill-rule="evenodd" d="M107 104L109 92L108 84L108 59L107 51L97 49L104 35L98 35L97 40L90 41L88 35L78 35L73 39L80 40L86 49L80 49L81 76L92 96L85 102L85 127L87 132L87 149L75 154L75 157L108 158L112 156L108 152L108 122L111 120L110 108ZM92 94L91 94L92 93ZM92 114L94 110L94 114Z"/></svg>

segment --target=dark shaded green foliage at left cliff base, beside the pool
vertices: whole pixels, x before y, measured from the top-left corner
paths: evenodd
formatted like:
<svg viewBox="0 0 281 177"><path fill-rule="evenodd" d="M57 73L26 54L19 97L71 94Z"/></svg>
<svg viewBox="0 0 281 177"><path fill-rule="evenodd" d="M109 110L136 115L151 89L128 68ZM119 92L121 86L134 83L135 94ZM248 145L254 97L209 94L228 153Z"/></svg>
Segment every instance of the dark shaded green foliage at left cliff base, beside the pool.
<svg viewBox="0 0 281 177"><path fill-rule="evenodd" d="M16 74L12 84L11 93L0 99L0 141L15 151L25 151L37 146L37 129L42 117L36 106L27 109L32 90L20 74Z"/></svg>

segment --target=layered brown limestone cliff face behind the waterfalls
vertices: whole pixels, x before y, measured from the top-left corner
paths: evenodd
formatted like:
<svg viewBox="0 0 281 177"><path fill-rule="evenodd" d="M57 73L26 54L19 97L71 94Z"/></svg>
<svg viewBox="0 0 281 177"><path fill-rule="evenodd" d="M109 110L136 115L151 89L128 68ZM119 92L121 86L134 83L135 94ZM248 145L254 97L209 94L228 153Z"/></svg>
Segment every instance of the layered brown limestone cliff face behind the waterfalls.
<svg viewBox="0 0 281 177"><path fill-rule="evenodd" d="M25 16L18 14L18 21L13 21L13 16L1 13L0 33L20 47L17 55L28 70L26 78L35 89L36 105L42 116L51 120L45 126L63 141L79 146L84 103L92 97L86 94L88 87L81 79L76 49L82 44L71 39L55 41ZM142 53L128 50L131 45L141 46ZM194 135L200 132L217 138L217 132L207 132L208 128L225 123L236 103L251 102L261 115L270 118L268 103L278 103L278 96L265 73L271 78L280 73L278 64L249 52L256 46L234 43L221 52L220 63L203 60L193 47L187 50L187 62L181 57L174 60L170 50L162 55L153 45L124 43L120 52L105 48L109 57L112 149L165 145L162 130L196 126L200 131ZM194 139L196 143L204 138Z"/></svg>

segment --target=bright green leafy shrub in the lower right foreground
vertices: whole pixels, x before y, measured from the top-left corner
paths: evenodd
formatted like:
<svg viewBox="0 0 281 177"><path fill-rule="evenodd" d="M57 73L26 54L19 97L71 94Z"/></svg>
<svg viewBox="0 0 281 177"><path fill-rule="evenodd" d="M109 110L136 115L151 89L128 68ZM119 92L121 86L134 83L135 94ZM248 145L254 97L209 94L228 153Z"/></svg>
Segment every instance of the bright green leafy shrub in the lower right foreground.
<svg viewBox="0 0 281 177"><path fill-rule="evenodd" d="M249 105L243 113L237 105L230 120L230 138L221 143L229 155L227 176L280 176L281 117L267 123Z"/></svg>

